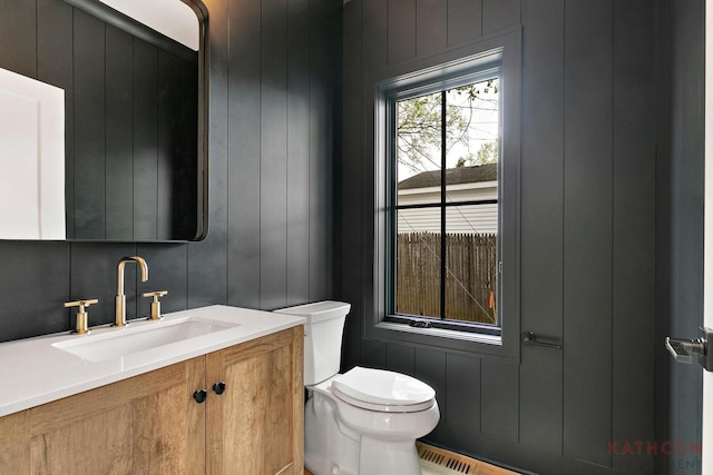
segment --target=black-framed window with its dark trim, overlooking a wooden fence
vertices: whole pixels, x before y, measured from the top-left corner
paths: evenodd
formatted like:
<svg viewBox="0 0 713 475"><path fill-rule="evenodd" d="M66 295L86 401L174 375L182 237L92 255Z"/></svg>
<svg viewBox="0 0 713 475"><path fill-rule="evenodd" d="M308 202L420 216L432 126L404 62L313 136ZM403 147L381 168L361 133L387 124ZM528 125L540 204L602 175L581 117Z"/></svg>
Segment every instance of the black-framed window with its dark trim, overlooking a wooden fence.
<svg viewBox="0 0 713 475"><path fill-rule="evenodd" d="M369 335L519 347L518 78L519 30L374 80Z"/></svg>

